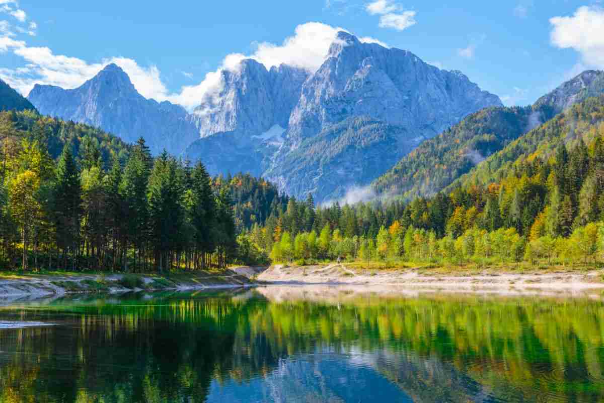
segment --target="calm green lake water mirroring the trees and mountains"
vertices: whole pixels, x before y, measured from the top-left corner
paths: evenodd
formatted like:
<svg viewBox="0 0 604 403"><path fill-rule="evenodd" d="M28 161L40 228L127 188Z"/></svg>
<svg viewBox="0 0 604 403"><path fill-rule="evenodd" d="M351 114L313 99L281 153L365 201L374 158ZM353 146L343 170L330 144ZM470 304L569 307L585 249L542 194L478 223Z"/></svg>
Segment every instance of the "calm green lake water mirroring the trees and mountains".
<svg viewBox="0 0 604 403"><path fill-rule="evenodd" d="M599 402L602 299L270 286L15 302L0 402Z"/></svg>

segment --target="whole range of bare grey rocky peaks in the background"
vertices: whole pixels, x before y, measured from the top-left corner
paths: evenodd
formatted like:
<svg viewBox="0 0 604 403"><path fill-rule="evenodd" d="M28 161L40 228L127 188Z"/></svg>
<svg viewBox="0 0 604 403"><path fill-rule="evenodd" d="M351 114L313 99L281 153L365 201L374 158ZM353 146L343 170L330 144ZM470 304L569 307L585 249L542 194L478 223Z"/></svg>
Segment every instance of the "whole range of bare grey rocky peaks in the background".
<svg viewBox="0 0 604 403"><path fill-rule="evenodd" d="M101 127L132 143L143 135L207 165L212 175L248 172L318 202L369 184L422 140L500 99L458 71L341 32L314 73L252 59L222 69L201 103L138 94L116 65L76 89L36 85L40 113Z"/></svg>

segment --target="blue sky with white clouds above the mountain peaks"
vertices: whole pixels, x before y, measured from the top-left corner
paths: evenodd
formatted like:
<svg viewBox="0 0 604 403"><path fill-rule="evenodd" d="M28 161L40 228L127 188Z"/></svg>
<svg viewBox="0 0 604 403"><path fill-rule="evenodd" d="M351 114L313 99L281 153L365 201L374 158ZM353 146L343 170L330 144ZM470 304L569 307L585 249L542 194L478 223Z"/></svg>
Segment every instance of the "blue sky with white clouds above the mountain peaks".
<svg viewBox="0 0 604 403"><path fill-rule="evenodd" d="M338 30L458 69L506 105L604 69L601 0L0 0L0 78L27 95L114 62L145 97L192 109L243 57L316 70Z"/></svg>

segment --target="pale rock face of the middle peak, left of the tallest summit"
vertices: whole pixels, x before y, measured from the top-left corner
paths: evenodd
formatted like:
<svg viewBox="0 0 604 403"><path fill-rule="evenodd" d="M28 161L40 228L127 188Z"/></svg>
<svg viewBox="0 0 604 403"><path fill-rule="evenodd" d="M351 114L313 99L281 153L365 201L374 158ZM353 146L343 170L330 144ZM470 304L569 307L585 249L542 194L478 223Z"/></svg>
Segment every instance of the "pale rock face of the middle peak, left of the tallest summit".
<svg viewBox="0 0 604 403"><path fill-rule="evenodd" d="M286 127L308 77L303 69L286 65L267 70L253 59L219 74L219 84L205 94L191 117L201 137L223 132L252 137L275 124Z"/></svg>

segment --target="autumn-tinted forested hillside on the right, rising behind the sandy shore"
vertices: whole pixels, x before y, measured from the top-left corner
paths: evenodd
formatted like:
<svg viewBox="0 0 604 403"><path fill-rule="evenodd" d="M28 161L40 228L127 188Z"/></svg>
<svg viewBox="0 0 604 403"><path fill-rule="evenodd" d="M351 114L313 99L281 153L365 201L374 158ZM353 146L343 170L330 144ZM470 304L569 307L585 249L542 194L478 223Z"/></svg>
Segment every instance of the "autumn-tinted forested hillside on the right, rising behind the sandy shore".
<svg viewBox="0 0 604 403"><path fill-rule="evenodd" d="M275 261L594 262L604 247L604 96L533 129L432 198L306 209L291 199L252 237Z"/></svg>

